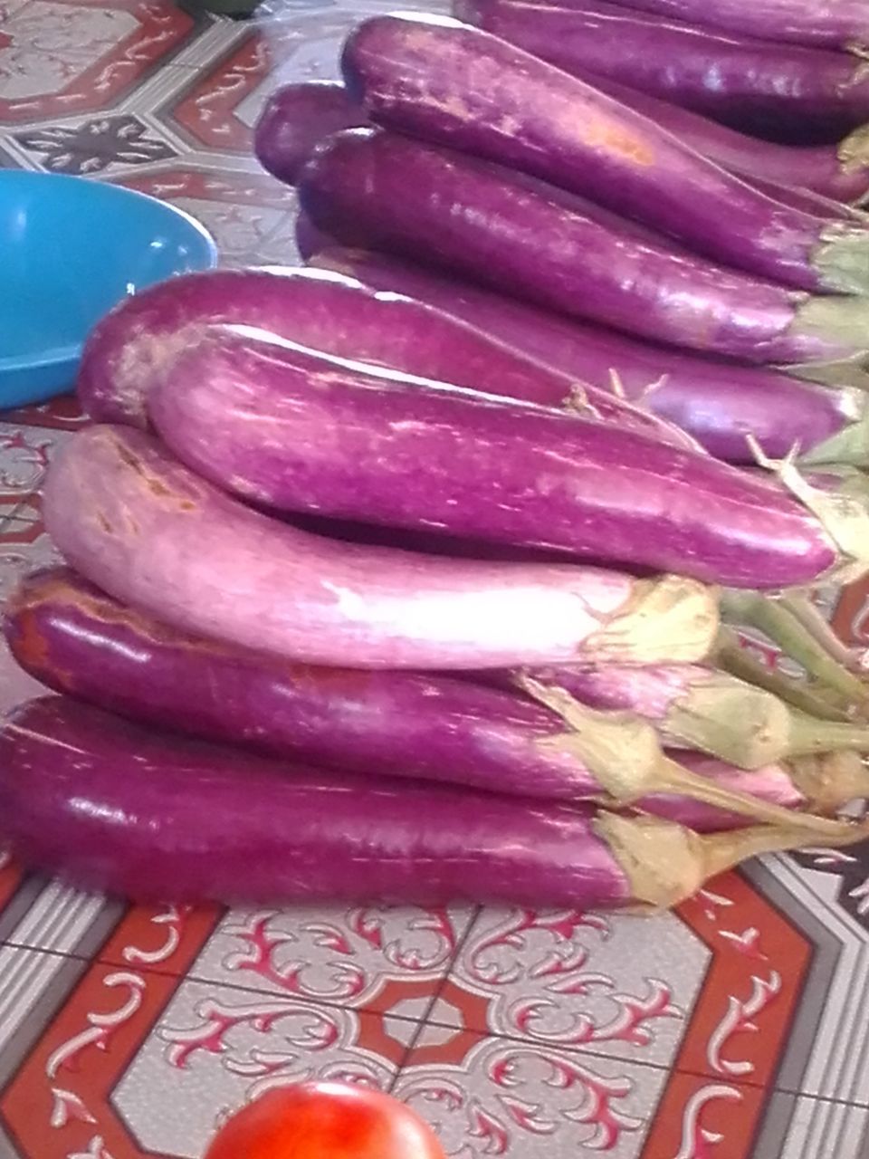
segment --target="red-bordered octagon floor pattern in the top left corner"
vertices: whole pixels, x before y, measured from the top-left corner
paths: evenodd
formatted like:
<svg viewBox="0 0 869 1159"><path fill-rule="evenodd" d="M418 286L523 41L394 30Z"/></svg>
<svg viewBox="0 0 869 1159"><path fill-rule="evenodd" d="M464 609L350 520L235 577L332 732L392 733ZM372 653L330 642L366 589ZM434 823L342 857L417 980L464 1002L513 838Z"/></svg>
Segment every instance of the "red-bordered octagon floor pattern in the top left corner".
<svg viewBox="0 0 869 1159"><path fill-rule="evenodd" d="M109 109L209 23L160 0L7 0L0 124Z"/></svg>

